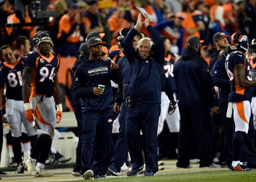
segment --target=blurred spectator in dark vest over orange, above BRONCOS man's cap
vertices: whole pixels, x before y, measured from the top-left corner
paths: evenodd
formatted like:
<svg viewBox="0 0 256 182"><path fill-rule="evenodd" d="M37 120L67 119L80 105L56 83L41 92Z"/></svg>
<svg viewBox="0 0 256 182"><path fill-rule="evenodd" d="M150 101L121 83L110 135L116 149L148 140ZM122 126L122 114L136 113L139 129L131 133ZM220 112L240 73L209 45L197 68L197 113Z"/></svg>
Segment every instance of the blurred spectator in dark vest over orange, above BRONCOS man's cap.
<svg viewBox="0 0 256 182"><path fill-rule="evenodd" d="M99 20L99 7L98 0L89 0L87 2L88 9L84 12L84 25L86 34L89 32L97 31L104 32L104 27Z"/></svg>

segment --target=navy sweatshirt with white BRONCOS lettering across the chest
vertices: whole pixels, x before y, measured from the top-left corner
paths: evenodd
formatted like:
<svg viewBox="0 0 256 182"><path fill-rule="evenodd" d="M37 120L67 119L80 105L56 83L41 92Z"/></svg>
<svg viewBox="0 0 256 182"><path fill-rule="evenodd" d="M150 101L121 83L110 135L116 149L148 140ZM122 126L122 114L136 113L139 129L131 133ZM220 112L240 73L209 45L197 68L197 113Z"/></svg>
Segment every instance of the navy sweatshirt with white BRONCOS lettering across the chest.
<svg viewBox="0 0 256 182"><path fill-rule="evenodd" d="M80 96L82 112L109 112L113 110L113 95L110 80L118 82L117 70L110 70L110 62L102 59L88 60L78 66L73 91ZM98 85L106 86L103 94L97 96L93 94L94 87Z"/></svg>

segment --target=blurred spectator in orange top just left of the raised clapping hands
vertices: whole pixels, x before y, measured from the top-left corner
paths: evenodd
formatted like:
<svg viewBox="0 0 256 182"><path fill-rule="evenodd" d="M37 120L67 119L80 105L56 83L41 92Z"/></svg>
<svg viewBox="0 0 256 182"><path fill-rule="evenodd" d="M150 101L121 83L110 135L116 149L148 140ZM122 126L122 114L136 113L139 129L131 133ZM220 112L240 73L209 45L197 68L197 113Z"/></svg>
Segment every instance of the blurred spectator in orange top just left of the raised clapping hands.
<svg viewBox="0 0 256 182"><path fill-rule="evenodd" d="M117 32L122 28L131 28L131 24L124 19L125 8L118 5L108 20L109 30L112 32L111 45L116 45Z"/></svg>

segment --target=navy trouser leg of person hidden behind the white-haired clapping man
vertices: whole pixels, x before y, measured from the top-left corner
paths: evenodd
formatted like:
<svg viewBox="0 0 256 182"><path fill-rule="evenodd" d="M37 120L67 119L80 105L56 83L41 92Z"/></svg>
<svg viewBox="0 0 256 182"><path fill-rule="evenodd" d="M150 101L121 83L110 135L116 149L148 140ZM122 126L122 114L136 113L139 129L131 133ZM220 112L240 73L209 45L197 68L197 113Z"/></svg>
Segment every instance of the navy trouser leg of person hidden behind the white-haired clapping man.
<svg viewBox="0 0 256 182"><path fill-rule="evenodd" d="M127 140L125 137L125 118L126 118L126 106L122 106L119 113L119 136L115 144L115 151L113 153L110 166L114 166L118 172L121 172L121 167L125 163L127 157Z"/></svg>

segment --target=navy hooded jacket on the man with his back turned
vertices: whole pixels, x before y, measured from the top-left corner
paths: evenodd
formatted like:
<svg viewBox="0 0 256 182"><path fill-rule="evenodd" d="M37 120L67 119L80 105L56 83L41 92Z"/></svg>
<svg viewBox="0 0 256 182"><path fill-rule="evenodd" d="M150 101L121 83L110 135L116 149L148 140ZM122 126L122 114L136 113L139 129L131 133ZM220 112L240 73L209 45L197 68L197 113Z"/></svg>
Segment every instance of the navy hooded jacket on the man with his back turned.
<svg viewBox="0 0 256 182"><path fill-rule="evenodd" d="M173 69L178 106L214 107L212 78L200 53L186 47Z"/></svg>

